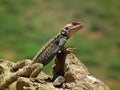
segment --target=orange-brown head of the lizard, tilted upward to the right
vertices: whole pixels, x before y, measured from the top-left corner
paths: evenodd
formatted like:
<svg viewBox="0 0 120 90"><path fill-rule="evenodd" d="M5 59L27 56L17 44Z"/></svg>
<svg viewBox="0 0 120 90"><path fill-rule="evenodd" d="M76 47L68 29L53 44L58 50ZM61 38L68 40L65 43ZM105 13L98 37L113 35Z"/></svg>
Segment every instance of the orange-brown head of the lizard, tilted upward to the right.
<svg viewBox="0 0 120 90"><path fill-rule="evenodd" d="M74 33L79 31L83 27L83 23L81 22L72 22L70 24L65 25L62 30L61 34L66 35L68 38L70 38Z"/></svg>

